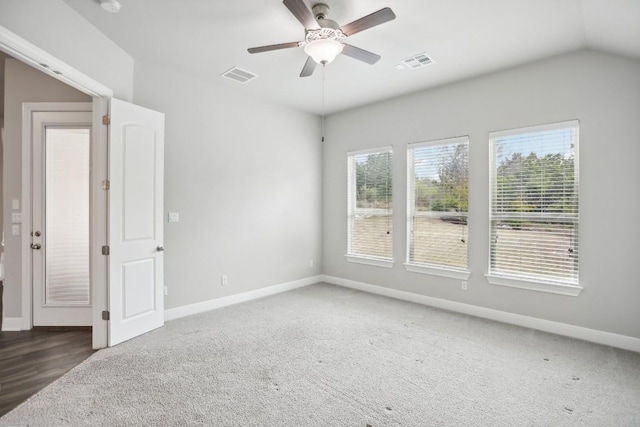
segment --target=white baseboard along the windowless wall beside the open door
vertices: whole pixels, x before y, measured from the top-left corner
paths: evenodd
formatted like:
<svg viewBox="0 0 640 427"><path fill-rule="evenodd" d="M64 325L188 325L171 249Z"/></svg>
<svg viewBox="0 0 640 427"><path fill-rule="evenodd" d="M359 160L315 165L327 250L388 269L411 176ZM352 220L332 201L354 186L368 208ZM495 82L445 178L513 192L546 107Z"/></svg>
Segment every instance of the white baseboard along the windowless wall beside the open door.
<svg viewBox="0 0 640 427"><path fill-rule="evenodd" d="M228 297L216 298L195 304L184 305L182 307L170 308L164 311L164 320L174 320L185 316L191 316L192 314L204 313L205 311L215 310L216 308L227 307L229 305L313 285L314 283L321 281L322 276L312 276L305 279L294 280L293 282L256 289L255 291L243 292L241 294L229 295Z"/></svg>

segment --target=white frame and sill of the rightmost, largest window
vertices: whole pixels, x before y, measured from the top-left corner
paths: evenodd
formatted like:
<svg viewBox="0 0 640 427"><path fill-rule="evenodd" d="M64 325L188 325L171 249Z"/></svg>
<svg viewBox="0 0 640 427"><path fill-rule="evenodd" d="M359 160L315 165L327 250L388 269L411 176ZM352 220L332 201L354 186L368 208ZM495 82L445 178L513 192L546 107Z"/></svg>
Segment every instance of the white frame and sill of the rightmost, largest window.
<svg viewBox="0 0 640 427"><path fill-rule="evenodd" d="M578 296L584 289L580 283L580 258L578 256L578 274L575 283L570 283L561 278L543 278L535 277L534 275L527 275L522 273L501 273L491 270L492 263L492 251L493 248L493 222L495 218L494 213L494 197L495 197L495 183L497 182L497 146L496 140L505 136L517 136L529 133L539 133L545 131L553 131L560 129L573 128L575 131L574 141L574 186L577 194L577 213L575 215L575 227L576 234L579 236L580 227L580 122L579 120L567 120L563 122L556 122L543 125L528 126L522 128L514 128L509 130L495 131L489 133L489 247L488 247L488 263L487 273L485 277L487 281L492 285L507 286L519 289L527 289L540 292L548 292L567 296ZM542 216L542 214L540 214ZM548 215L551 217L551 214ZM580 240L578 239L578 247L580 246ZM580 253L578 249L578 254Z"/></svg>

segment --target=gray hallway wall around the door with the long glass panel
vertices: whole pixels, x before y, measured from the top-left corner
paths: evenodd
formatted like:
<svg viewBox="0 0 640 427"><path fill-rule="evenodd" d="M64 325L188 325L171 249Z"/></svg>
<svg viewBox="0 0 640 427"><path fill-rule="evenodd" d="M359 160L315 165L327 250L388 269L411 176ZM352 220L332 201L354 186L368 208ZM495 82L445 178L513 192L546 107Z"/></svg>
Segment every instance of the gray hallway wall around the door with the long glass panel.
<svg viewBox="0 0 640 427"><path fill-rule="evenodd" d="M22 210L22 103L89 102L76 89L16 59L5 61L3 198L5 233L5 317L21 317L22 236L11 235L11 200L20 200ZM21 233L25 231L21 227Z"/></svg>

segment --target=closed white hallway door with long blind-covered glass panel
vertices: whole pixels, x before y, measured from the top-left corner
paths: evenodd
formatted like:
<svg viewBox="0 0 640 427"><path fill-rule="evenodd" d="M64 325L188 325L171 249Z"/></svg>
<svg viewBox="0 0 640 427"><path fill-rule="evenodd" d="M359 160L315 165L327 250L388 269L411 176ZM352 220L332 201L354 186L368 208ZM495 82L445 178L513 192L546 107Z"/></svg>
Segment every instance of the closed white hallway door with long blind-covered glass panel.
<svg viewBox="0 0 640 427"><path fill-rule="evenodd" d="M34 326L91 326L90 111L33 113Z"/></svg>

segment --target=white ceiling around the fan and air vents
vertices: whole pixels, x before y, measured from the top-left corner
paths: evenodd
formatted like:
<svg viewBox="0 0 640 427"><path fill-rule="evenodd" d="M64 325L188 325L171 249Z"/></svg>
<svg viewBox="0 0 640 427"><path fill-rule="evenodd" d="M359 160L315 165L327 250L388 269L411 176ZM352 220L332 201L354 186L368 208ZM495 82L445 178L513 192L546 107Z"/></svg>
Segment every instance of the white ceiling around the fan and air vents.
<svg viewBox="0 0 640 427"><path fill-rule="evenodd" d="M322 68L298 77L302 48L247 52L304 38L282 0L119 1L120 13L110 14L99 0L65 0L136 60L322 112ZM381 55L377 64L340 55L327 65L326 113L583 48L640 59L640 0L305 0L318 2L340 25L387 6L397 16L349 38ZM395 68L422 52L435 63ZM234 66L259 77L247 84L220 77Z"/></svg>

